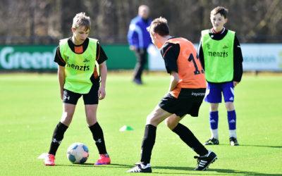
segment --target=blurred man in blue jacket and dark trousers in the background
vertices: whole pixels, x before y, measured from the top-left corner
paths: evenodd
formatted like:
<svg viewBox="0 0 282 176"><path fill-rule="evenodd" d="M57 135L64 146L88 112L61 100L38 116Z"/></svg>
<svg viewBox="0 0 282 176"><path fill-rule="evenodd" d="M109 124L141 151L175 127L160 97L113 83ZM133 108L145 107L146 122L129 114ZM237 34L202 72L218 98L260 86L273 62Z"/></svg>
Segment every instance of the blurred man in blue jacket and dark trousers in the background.
<svg viewBox="0 0 282 176"><path fill-rule="evenodd" d="M141 75L147 62L147 47L152 43L147 31L147 27L151 24L149 19L149 7L141 5L138 8L137 17L130 22L128 30L128 43L130 50L135 52L137 63L133 73L133 82L143 84Z"/></svg>

